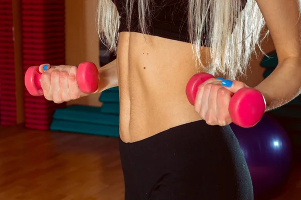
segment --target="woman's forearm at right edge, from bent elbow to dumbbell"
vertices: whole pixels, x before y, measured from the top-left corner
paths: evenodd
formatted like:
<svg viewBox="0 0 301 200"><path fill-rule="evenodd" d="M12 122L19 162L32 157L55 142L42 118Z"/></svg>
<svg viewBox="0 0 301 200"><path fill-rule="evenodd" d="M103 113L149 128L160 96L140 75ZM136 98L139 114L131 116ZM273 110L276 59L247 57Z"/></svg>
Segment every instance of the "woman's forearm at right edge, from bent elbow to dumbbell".
<svg viewBox="0 0 301 200"><path fill-rule="evenodd" d="M256 87L266 100L266 111L280 107L301 92L301 59L288 57Z"/></svg>

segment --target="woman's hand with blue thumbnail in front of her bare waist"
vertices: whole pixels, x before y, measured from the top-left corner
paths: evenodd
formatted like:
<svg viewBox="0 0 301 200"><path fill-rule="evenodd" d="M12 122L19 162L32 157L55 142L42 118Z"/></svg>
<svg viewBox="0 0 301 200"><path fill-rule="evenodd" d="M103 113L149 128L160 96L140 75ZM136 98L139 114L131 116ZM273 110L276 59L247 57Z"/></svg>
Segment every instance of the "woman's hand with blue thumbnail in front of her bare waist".
<svg viewBox="0 0 301 200"><path fill-rule="evenodd" d="M232 122L229 114L230 99L242 87L247 85L236 80L210 78L198 88L195 110L209 125L230 124Z"/></svg>

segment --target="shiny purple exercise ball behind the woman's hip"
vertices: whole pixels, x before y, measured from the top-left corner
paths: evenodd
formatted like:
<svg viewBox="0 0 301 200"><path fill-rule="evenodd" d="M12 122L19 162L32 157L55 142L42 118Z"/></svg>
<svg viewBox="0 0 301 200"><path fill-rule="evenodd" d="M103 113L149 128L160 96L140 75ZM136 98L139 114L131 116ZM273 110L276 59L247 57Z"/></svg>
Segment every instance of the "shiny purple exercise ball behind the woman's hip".
<svg viewBox="0 0 301 200"><path fill-rule="evenodd" d="M255 195L281 186L291 165L291 145L283 127L268 113L253 127L230 124L250 170Z"/></svg>

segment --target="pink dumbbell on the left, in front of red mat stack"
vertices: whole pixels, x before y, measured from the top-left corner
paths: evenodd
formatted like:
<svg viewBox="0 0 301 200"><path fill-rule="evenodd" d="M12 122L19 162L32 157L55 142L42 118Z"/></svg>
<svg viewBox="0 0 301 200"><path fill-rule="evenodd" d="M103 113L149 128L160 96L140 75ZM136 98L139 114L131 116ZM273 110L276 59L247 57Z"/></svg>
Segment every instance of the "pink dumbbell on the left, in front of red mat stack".
<svg viewBox="0 0 301 200"><path fill-rule="evenodd" d="M31 66L25 73L25 86L29 93L34 96L41 95L41 75L39 66ZM93 62L82 62L78 65L76 81L79 89L84 93L93 93L99 84L99 73Z"/></svg>

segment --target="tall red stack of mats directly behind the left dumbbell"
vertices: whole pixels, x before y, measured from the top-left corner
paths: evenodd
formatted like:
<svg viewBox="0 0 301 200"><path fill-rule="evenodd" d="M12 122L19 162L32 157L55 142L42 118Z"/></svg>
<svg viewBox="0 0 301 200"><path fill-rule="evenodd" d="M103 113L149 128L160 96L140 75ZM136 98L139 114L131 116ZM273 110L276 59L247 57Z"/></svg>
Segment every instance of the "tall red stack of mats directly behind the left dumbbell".
<svg viewBox="0 0 301 200"><path fill-rule="evenodd" d="M65 1L22 0L24 72L33 65L65 63ZM32 96L25 89L25 125L49 129L56 104L44 96Z"/></svg>

